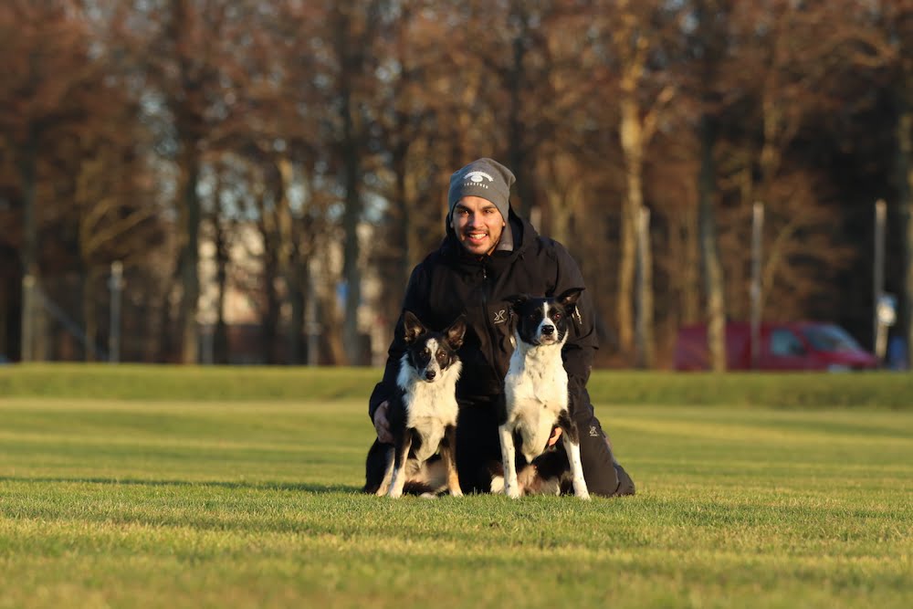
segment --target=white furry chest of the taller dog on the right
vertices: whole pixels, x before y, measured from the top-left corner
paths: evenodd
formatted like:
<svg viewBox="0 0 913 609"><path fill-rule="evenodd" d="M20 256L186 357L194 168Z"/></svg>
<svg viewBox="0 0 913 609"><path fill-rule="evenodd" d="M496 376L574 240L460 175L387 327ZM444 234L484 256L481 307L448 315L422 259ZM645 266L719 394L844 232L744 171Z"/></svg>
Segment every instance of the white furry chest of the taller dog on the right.
<svg viewBox="0 0 913 609"><path fill-rule="evenodd" d="M568 407L568 375L557 349L518 349L504 379L507 424L519 431L520 450L532 460L545 449L551 429Z"/></svg>

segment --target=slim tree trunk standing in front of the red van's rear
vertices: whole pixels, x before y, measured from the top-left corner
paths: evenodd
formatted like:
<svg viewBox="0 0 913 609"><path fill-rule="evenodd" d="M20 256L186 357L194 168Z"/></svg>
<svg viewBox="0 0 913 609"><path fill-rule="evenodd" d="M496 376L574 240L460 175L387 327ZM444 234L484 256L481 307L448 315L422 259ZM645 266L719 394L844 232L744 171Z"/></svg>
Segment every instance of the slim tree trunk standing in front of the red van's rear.
<svg viewBox="0 0 913 609"><path fill-rule="evenodd" d="M719 259L714 198L716 164L713 148L716 131L713 120L704 116L700 122L700 174L698 177L698 232L701 259L707 290L707 342L710 369L726 370L726 306L723 290L723 268Z"/></svg>

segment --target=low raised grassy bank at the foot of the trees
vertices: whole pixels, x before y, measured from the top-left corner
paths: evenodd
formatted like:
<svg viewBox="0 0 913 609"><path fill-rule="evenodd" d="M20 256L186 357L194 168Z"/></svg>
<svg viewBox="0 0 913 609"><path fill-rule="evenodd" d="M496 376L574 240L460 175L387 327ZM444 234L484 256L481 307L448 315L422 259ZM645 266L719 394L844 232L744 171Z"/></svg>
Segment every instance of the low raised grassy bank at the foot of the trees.
<svg viewBox="0 0 913 609"><path fill-rule="evenodd" d="M0 367L0 400L47 397L228 402L364 400L375 368L26 364ZM593 404L913 409L910 373L594 371Z"/></svg>

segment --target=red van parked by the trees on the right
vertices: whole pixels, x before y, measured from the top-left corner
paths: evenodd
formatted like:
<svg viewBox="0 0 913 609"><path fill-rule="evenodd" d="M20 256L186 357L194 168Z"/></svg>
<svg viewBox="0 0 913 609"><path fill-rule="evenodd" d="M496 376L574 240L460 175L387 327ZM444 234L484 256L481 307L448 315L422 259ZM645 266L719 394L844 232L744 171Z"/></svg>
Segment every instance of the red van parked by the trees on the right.
<svg viewBox="0 0 913 609"><path fill-rule="evenodd" d="M751 326L726 324L728 370L751 370ZM678 331L676 370L708 370L707 326L686 326ZM761 324L761 352L757 370L874 370L875 355L863 349L850 334L833 323L794 321Z"/></svg>

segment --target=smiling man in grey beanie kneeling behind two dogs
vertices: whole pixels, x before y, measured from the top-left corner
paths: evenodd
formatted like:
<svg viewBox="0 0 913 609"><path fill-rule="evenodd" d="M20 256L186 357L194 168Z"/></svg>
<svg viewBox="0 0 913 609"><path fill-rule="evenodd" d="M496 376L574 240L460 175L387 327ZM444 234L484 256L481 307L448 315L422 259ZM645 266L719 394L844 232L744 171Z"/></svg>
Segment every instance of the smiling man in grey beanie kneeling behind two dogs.
<svg viewBox="0 0 913 609"><path fill-rule="evenodd" d="M584 287L577 263L560 243L540 236L509 205L515 181L507 167L478 159L454 173L447 196L446 237L412 272L403 311L429 327L444 328L460 314L468 321L462 349L463 372L456 386L456 466L465 492L488 492L488 466L501 458L498 404L513 344L509 297L519 293L554 296ZM580 430L583 475L590 493L633 495L634 481L613 456L586 390L597 347L593 302L585 290L563 348L570 399ZM369 400L377 437L390 443L388 400L405 351L403 312L396 323L383 380ZM560 436L557 429L549 444Z"/></svg>

